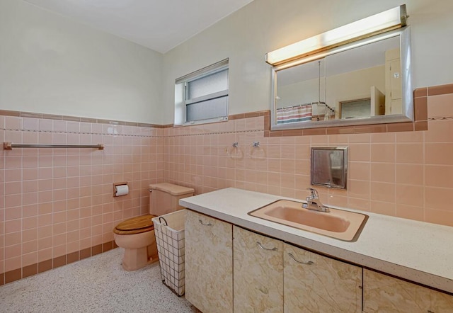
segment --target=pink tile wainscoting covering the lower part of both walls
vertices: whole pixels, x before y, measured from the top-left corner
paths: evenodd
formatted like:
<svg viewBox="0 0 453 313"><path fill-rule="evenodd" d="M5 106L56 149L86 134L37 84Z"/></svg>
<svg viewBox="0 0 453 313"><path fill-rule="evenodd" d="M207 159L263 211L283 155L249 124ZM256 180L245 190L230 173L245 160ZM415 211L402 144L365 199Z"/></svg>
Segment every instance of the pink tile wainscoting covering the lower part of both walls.
<svg viewBox="0 0 453 313"><path fill-rule="evenodd" d="M319 188L324 202L453 226L453 84L414 95L415 123L305 132L270 132L268 110L188 127L0 111L4 142L105 145L2 152L0 285L112 249L115 224L148 212L149 183L303 199L313 146L349 148L348 190ZM113 198L119 181L130 194Z"/></svg>

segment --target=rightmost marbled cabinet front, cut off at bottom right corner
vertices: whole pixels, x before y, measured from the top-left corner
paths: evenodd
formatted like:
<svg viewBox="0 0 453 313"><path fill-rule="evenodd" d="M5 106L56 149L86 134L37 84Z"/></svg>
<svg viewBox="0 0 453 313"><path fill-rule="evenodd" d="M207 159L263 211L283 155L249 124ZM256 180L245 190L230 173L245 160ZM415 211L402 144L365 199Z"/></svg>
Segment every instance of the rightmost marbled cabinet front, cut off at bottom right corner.
<svg viewBox="0 0 453 313"><path fill-rule="evenodd" d="M364 270L365 312L453 312L453 296L388 275Z"/></svg>

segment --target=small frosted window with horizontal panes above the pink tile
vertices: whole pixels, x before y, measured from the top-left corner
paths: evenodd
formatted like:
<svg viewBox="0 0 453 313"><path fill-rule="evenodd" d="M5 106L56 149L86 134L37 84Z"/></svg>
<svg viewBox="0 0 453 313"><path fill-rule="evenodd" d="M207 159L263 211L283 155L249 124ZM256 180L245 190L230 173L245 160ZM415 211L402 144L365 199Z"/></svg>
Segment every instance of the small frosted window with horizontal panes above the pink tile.
<svg viewBox="0 0 453 313"><path fill-rule="evenodd" d="M228 119L228 59L176 79L175 124Z"/></svg>

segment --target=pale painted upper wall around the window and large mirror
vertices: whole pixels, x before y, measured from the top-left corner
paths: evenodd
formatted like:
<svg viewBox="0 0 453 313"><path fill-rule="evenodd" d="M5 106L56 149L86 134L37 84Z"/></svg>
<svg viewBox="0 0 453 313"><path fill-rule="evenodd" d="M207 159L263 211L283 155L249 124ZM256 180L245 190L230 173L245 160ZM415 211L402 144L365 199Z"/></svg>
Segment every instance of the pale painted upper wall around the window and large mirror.
<svg viewBox="0 0 453 313"><path fill-rule="evenodd" d="M414 88L453 82L452 0L255 0L164 55L165 124L175 79L229 57L229 114L270 109L266 52L406 4Z"/></svg>

